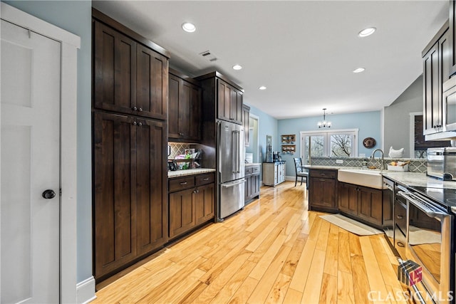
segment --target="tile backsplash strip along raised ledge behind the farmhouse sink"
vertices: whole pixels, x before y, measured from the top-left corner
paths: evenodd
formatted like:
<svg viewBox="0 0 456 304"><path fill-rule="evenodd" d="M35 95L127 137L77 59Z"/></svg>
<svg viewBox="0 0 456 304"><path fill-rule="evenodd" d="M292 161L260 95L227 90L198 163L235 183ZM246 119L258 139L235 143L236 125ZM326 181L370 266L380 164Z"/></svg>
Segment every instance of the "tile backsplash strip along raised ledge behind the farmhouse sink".
<svg viewBox="0 0 456 304"><path fill-rule="evenodd" d="M338 164L336 163L337 159L342 159L343 163ZM378 158L370 159L367 157L312 157L311 164L319 165L319 166L337 166L337 167L362 167L362 162L367 159L368 166L375 166L378 167ZM392 161L401 161L405 162L410 160L410 164L408 165L408 170L410 172L420 172L425 173L427 170L427 159L418 159L418 158L390 158L385 157L385 165Z"/></svg>

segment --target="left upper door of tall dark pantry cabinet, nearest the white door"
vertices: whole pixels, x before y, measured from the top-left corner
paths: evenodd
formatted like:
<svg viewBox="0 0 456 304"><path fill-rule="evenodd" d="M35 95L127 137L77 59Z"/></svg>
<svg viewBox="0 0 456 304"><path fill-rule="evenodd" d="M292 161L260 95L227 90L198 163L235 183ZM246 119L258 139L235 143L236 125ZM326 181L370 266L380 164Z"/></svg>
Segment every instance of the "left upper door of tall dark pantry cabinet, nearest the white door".
<svg viewBox="0 0 456 304"><path fill-rule="evenodd" d="M94 25L94 106L131 114L136 101L137 44L103 23Z"/></svg>

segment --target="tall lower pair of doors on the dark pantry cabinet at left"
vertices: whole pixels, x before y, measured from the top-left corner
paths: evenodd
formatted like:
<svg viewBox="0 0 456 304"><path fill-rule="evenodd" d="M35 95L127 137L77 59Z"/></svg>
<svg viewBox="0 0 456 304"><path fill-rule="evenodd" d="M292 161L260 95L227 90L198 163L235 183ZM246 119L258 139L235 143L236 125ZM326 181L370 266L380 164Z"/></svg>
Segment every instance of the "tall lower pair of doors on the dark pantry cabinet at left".
<svg viewBox="0 0 456 304"><path fill-rule="evenodd" d="M166 125L93 113L95 278L167 242Z"/></svg>

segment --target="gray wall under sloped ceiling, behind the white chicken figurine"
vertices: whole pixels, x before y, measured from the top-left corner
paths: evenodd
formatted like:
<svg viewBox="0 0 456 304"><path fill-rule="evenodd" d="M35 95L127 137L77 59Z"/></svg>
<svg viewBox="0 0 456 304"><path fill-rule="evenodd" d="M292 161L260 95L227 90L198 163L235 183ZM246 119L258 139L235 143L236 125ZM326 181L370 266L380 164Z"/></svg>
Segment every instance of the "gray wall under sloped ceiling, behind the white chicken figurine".
<svg viewBox="0 0 456 304"><path fill-rule="evenodd" d="M385 107L385 157L388 156L390 147L395 150L404 148L404 157L414 157L410 155L410 112L423 112L423 75L405 89L389 107Z"/></svg>

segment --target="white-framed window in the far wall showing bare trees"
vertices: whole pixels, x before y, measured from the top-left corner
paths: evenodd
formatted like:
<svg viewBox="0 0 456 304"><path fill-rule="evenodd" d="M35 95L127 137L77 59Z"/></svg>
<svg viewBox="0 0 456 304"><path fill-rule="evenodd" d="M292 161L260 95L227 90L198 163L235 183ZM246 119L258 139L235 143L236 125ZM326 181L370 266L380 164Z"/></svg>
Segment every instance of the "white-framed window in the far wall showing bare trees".
<svg viewBox="0 0 456 304"><path fill-rule="evenodd" d="M301 131L301 158L310 164L312 157L355 157L358 154L358 129Z"/></svg>

